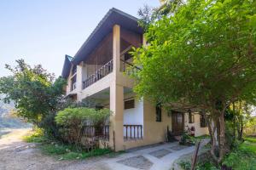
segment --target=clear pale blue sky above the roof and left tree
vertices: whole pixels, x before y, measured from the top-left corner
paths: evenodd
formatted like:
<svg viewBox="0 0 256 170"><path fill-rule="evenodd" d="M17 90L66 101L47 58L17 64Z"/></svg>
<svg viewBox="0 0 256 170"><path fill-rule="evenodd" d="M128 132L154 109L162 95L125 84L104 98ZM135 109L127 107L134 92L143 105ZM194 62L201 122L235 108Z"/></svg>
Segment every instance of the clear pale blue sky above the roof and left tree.
<svg viewBox="0 0 256 170"><path fill-rule="evenodd" d="M20 58L61 75L65 54L76 54L109 8L137 16L144 4L158 6L159 1L0 1L0 77L9 75L5 64Z"/></svg>

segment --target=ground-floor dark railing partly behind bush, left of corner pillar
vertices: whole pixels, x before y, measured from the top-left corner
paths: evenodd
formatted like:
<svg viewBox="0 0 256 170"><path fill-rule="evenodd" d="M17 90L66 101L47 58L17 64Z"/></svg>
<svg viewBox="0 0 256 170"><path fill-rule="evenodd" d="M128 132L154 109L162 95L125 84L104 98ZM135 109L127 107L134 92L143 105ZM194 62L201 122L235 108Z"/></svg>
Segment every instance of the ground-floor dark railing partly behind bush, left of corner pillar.
<svg viewBox="0 0 256 170"><path fill-rule="evenodd" d="M109 140L109 126L106 125L96 130L94 126L84 126L82 130L82 135L86 138L97 137L99 139Z"/></svg>

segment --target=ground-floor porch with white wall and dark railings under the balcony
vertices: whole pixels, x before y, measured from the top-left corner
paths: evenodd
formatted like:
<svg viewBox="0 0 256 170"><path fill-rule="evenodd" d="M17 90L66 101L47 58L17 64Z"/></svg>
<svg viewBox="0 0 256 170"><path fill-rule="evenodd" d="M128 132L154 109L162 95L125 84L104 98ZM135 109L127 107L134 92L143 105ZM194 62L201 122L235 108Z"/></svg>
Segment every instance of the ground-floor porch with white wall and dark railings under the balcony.
<svg viewBox="0 0 256 170"><path fill-rule="evenodd" d="M95 108L110 108L110 88L105 88L102 91L90 95L87 98L83 99L83 102L89 103L91 107ZM123 136L122 143L128 141L137 141L143 139L143 101L135 99L135 94L132 92L131 88L123 88L123 111L122 113L118 112L117 114L123 115L123 131L121 135ZM113 104L112 104L113 105ZM119 115L118 115L119 116ZM109 123L101 129L97 129L92 126L83 127L83 136L87 138L97 137L99 139L111 141L115 139L120 139L118 132L113 129L114 122L110 120L113 118L113 115L109 118ZM113 134L115 133L115 134ZM114 138L114 139L113 139Z"/></svg>

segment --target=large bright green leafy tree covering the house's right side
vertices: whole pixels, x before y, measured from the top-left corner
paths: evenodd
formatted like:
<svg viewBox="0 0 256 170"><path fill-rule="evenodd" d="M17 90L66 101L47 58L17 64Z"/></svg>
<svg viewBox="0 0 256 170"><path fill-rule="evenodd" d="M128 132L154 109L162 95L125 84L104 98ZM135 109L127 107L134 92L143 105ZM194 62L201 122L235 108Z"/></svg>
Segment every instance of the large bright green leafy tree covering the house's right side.
<svg viewBox="0 0 256 170"><path fill-rule="evenodd" d="M209 113L219 162L226 152L224 111L238 100L256 101L255 13L253 0L189 0L153 20L148 46L133 53L143 67L135 75L137 94Z"/></svg>

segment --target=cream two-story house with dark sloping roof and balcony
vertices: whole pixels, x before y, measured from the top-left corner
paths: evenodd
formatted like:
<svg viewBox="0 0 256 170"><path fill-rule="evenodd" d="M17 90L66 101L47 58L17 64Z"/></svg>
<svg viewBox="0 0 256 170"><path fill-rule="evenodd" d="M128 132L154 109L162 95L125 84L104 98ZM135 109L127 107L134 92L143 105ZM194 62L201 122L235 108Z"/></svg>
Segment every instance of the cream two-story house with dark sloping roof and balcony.
<svg viewBox="0 0 256 170"><path fill-rule="evenodd" d="M195 127L195 136L206 134L204 116L190 110L165 111L147 99L137 99L134 82L124 71L132 65L131 47L142 45L146 42L137 18L110 9L77 54L65 57L62 77L68 82L67 96L94 100L96 107L113 111L105 133L115 150L164 142L167 127L175 135L187 127Z"/></svg>

